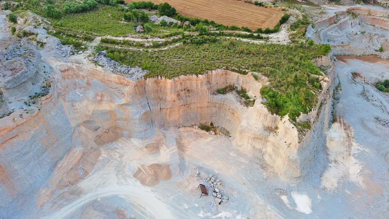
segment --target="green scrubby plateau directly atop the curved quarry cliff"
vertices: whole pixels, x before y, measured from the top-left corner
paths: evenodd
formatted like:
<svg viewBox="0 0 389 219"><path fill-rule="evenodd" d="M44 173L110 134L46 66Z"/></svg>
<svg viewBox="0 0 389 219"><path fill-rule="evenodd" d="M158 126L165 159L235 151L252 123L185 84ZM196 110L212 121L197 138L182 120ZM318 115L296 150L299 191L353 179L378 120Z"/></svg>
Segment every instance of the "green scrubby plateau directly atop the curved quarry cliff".
<svg viewBox="0 0 389 219"><path fill-rule="evenodd" d="M316 104L314 93L321 90L321 84L313 75L321 75L321 72L312 59L329 52L326 45L300 47L202 38L163 51L133 51L108 46L102 46L102 49L121 64L144 66L147 62L146 78L204 74L207 70L225 66L261 72L272 86L261 89L261 95L267 99L266 106L277 115L289 113L292 120Z"/></svg>

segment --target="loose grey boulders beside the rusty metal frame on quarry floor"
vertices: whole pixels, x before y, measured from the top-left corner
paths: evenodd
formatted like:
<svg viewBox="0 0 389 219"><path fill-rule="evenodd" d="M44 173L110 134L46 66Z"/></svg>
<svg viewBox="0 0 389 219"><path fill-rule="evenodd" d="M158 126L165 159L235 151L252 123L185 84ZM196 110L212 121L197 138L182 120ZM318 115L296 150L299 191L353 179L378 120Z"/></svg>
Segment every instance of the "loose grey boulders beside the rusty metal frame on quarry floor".
<svg viewBox="0 0 389 219"><path fill-rule="evenodd" d="M208 182L211 188L213 188L212 196L215 197L215 203L221 204L227 203L230 199L228 196L225 196L224 193L224 183L221 182L220 179L216 178L216 176L206 173L201 174L200 171L195 171L195 176L197 180L200 180L200 178L203 179L204 182Z"/></svg>

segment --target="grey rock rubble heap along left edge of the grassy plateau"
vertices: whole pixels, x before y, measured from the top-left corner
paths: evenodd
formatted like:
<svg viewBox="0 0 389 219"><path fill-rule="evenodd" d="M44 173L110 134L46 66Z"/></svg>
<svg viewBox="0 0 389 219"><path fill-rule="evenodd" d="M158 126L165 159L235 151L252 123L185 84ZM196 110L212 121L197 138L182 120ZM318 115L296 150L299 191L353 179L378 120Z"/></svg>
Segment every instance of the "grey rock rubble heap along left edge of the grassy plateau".
<svg viewBox="0 0 389 219"><path fill-rule="evenodd" d="M140 67L130 67L128 65L121 65L119 62L107 57L106 51L98 52L93 58L93 61L97 62L105 69L109 69L112 72L129 75L131 78L142 78L147 70L143 70Z"/></svg>

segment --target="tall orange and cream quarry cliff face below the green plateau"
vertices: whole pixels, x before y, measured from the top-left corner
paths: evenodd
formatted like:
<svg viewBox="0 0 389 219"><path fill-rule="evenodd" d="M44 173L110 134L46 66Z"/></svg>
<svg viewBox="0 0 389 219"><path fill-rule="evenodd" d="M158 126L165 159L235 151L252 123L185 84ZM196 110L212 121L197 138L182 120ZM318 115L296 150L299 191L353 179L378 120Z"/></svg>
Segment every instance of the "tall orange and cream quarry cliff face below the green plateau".
<svg viewBox="0 0 389 219"><path fill-rule="evenodd" d="M34 194L58 168L57 162L77 148L88 153L123 136L152 136L156 129L171 126L213 122L224 127L242 153L263 159L272 172L292 184L309 176L317 157L322 158L333 75L321 79L323 92L317 108L299 119L308 120L312 128L298 131L288 117L272 115L261 103L259 91L267 83L261 75L256 81L252 73L217 69L202 76L131 81L92 64L82 65L78 58L69 63L45 61L51 66L53 82L50 93L39 98L42 104L1 119L2 169L9 175L9 186L2 191L11 199L18 193ZM331 66L329 57L315 63ZM257 99L254 106L240 103L235 92L217 93L228 85L248 90ZM82 162L79 159L72 162ZM34 165L21 170L26 164ZM70 169L61 171L66 175ZM59 184L61 178L54 181Z"/></svg>

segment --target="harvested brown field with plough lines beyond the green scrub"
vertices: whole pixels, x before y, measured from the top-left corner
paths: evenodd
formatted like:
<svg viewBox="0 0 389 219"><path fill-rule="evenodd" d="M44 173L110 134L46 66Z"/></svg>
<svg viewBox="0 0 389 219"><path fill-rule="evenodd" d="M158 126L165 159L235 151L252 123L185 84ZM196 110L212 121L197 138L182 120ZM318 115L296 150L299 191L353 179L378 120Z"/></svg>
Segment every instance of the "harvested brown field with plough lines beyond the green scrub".
<svg viewBox="0 0 389 219"><path fill-rule="evenodd" d="M125 0L133 2L133 0ZM248 26L251 30L273 28L284 13L237 0L152 0L155 4L168 2L187 17L209 19L224 25Z"/></svg>

